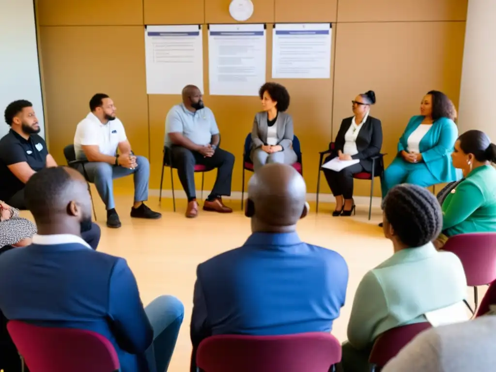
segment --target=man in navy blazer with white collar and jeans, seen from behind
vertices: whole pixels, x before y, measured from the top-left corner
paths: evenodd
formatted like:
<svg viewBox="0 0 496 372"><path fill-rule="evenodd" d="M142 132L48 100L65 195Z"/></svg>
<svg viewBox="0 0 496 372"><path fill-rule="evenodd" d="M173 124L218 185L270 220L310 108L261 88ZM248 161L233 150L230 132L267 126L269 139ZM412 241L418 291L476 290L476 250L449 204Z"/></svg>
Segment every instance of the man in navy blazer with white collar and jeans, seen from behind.
<svg viewBox="0 0 496 372"><path fill-rule="evenodd" d="M5 317L100 333L114 345L122 372L166 371L183 305L161 296L143 309L126 261L81 239L80 226L91 219L84 178L70 168L47 168L29 179L25 195L38 235L31 246L0 257Z"/></svg>

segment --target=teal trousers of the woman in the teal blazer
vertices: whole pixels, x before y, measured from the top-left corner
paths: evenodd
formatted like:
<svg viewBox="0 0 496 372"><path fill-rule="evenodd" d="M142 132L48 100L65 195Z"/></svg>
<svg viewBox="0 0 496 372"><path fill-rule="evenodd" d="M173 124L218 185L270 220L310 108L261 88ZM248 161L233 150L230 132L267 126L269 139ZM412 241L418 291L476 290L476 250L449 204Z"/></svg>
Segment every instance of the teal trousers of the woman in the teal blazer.
<svg viewBox="0 0 496 372"><path fill-rule="evenodd" d="M413 184L428 187L440 181L427 168L426 163L408 163L397 157L384 171L382 180L382 197L394 186Z"/></svg>

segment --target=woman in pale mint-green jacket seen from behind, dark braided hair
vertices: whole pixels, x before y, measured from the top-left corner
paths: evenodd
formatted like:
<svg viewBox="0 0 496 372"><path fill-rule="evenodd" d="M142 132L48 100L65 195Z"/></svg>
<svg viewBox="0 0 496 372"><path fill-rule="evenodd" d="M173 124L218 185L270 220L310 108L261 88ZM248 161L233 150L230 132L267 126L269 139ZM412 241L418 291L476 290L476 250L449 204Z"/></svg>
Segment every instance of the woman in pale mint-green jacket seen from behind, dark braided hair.
<svg viewBox="0 0 496 372"><path fill-rule="evenodd" d="M394 186L384 198L382 220L394 254L358 286L343 344L344 372L369 371L372 345L381 333L425 322L427 312L458 304L467 295L460 259L431 243L441 231L442 213L429 190Z"/></svg>

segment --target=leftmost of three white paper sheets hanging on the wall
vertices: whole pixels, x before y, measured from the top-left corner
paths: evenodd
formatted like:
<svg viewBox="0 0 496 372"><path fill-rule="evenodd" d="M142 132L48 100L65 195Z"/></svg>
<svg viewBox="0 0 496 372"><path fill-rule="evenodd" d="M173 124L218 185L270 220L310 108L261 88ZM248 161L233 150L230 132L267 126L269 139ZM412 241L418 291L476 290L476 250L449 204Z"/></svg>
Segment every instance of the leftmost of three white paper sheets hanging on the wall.
<svg viewBox="0 0 496 372"><path fill-rule="evenodd" d="M200 26L147 26L145 55L148 94L181 94L188 84L203 92Z"/></svg>

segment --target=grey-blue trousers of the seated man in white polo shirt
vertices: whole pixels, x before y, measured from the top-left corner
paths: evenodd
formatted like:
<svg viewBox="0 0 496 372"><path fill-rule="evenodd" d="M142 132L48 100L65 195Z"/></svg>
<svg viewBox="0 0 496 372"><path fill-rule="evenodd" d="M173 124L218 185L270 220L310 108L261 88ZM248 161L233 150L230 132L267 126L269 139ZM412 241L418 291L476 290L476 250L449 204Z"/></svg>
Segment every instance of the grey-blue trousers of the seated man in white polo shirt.
<svg viewBox="0 0 496 372"><path fill-rule="evenodd" d="M148 200L150 163L144 156L136 156L136 163L138 166L135 169L128 169L101 162L89 162L84 165L84 169L88 175L88 181L95 184L98 194L105 203L107 210L116 207L114 202L113 180L131 174L134 175L134 201ZM81 165L78 165L78 170L83 173Z"/></svg>

